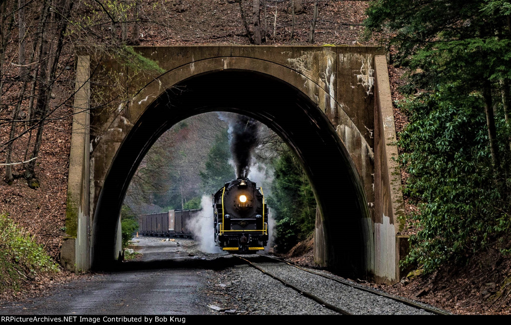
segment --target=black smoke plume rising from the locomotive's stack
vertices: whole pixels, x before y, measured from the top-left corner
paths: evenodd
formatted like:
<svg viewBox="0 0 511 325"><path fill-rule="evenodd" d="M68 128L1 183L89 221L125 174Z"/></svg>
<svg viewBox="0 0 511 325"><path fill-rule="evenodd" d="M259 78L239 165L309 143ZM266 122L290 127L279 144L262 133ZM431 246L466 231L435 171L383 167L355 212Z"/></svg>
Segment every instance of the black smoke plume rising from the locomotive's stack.
<svg viewBox="0 0 511 325"><path fill-rule="evenodd" d="M230 120L230 125L230 152L233 154L236 176L247 177L252 153L258 145L258 122L244 115L236 115Z"/></svg>

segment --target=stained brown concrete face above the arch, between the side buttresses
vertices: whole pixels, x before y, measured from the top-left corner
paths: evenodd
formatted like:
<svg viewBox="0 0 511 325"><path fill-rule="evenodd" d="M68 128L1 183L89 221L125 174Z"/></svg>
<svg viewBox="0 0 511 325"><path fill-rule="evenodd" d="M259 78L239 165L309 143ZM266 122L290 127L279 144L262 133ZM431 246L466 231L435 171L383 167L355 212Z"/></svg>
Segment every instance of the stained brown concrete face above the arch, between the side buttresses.
<svg viewBox="0 0 511 325"><path fill-rule="evenodd" d="M123 71L129 102L112 102L103 129L94 133L93 147L104 158L95 160L95 198L117 150L137 118L164 91L176 83L218 69L247 69L282 79L303 91L327 115L351 153L363 180L373 216L374 47L136 47L136 52L158 62L165 74L140 73L108 62ZM117 81L117 80L116 80ZM117 85L126 81L117 81ZM142 88L143 87L143 88ZM142 89L141 89L142 88ZM104 115L102 115L104 116ZM96 144L102 145L96 149Z"/></svg>

